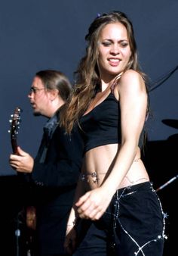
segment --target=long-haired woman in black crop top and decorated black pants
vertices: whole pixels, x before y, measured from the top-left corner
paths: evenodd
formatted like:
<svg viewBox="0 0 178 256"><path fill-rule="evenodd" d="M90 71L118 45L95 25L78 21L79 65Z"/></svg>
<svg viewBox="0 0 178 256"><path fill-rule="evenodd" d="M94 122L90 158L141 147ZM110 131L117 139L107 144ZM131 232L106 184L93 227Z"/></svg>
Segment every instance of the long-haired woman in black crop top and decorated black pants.
<svg viewBox="0 0 178 256"><path fill-rule="evenodd" d="M77 243L75 256L160 256L164 213L141 160L149 107L132 24L120 11L98 15L85 39L62 118L68 133L78 122L84 137L64 246L72 253Z"/></svg>

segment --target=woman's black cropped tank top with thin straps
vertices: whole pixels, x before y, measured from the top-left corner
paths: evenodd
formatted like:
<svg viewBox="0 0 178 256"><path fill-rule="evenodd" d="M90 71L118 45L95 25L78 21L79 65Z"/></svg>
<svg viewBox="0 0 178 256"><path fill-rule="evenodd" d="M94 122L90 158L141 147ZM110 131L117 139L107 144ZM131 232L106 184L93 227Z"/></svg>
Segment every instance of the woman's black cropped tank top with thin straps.
<svg viewBox="0 0 178 256"><path fill-rule="evenodd" d="M110 92L104 101L80 119L84 152L100 145L121 143L121 111Z"/></svg>

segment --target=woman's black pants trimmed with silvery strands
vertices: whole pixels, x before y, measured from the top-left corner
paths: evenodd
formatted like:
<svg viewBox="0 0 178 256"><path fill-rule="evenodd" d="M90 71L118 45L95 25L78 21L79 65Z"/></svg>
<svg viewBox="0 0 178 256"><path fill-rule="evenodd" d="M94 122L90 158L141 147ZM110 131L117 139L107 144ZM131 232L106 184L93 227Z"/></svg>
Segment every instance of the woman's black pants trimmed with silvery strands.
<svg viewBox="0 0 178 256"><path fill-rule="evenodd" d="M73 256L162 256L164 213L149 182L118 189L97 221L81 220Z"/></svg>

